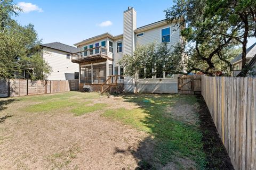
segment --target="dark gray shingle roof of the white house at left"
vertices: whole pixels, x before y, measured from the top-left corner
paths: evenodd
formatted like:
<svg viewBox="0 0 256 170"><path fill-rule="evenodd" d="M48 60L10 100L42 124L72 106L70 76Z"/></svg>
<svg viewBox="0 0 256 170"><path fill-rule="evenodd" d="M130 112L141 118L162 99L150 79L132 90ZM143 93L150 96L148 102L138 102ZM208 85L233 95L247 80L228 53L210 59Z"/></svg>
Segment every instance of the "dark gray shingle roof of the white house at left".
<svg viewBox="0 0 256 170"><path fill-rule="evenodd" d="M61 50L63 52L67 52L67 53L76 53L79 52L79 49L76 47L72 47L66 44L62 44L59 42L54 42L54 43L48 43L48 44L42 44L41 46L43 47L49 47L49 48L53 48L53 49L58 49Z"/></svg>

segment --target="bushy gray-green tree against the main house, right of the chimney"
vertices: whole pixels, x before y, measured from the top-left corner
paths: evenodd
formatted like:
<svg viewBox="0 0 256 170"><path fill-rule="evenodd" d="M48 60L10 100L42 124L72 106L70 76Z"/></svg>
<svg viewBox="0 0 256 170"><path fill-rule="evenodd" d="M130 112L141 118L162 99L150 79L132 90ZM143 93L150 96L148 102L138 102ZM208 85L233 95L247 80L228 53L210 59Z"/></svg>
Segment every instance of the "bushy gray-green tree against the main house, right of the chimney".
<svg viewBox="0 0 256 170"><path fill-rule="evenodd" d="M175 46L180 47L180 44ZM172 51L166 43L137 45L133 55L124 55L118 61L118 64L125 68L124 75L133 78L136 78L141 70L144 72L145 78L163 71L180 73L183 63L181 55L178 55L178 53Z"/></svg>

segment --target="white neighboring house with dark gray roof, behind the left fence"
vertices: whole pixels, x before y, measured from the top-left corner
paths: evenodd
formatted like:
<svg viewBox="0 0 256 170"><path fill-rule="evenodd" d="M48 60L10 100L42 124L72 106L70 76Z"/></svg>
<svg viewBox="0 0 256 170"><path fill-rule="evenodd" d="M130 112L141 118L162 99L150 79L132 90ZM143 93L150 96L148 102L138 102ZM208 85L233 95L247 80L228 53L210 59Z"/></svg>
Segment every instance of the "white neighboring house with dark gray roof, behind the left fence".
<svg viewBox="0 0 256 170"><path fill-rule="evenodd" d="M42 57L52 67L48 80L74 80L79 78L78 64L71 62L73 53L79 50L62 43L43 44Z"/></svg>

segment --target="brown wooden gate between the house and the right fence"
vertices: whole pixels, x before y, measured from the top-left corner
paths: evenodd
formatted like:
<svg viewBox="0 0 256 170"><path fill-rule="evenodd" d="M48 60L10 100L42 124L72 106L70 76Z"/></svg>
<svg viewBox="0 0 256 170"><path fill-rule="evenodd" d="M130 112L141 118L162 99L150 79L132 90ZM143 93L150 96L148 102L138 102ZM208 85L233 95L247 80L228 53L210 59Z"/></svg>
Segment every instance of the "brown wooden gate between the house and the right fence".
<svg viewBox="0 0 256 170"><path fill-rule="evenodd" d="M201 94L201 75L187 75L178 78L179 94Z"/></svg>

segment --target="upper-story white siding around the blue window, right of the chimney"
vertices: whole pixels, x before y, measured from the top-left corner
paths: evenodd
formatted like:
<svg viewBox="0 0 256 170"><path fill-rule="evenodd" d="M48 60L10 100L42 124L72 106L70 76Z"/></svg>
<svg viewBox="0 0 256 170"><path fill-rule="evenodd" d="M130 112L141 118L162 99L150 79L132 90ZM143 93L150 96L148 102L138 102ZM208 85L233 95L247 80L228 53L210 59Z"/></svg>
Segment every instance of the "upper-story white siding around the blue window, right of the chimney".
<svg viewBox="0 0 256 170"><path fill-rule="evenodd" d="M147 45L148 43L161 43L161 30L167 27L171 27L171 43L169 43L169 47L178 43L180 40L180 29L177 29L178 26L174 24L166 24L162 27L150 29L144 32L144 36L135 37L135 44L136 45ZM176 30L176 31L175 31Z"/></svg>

